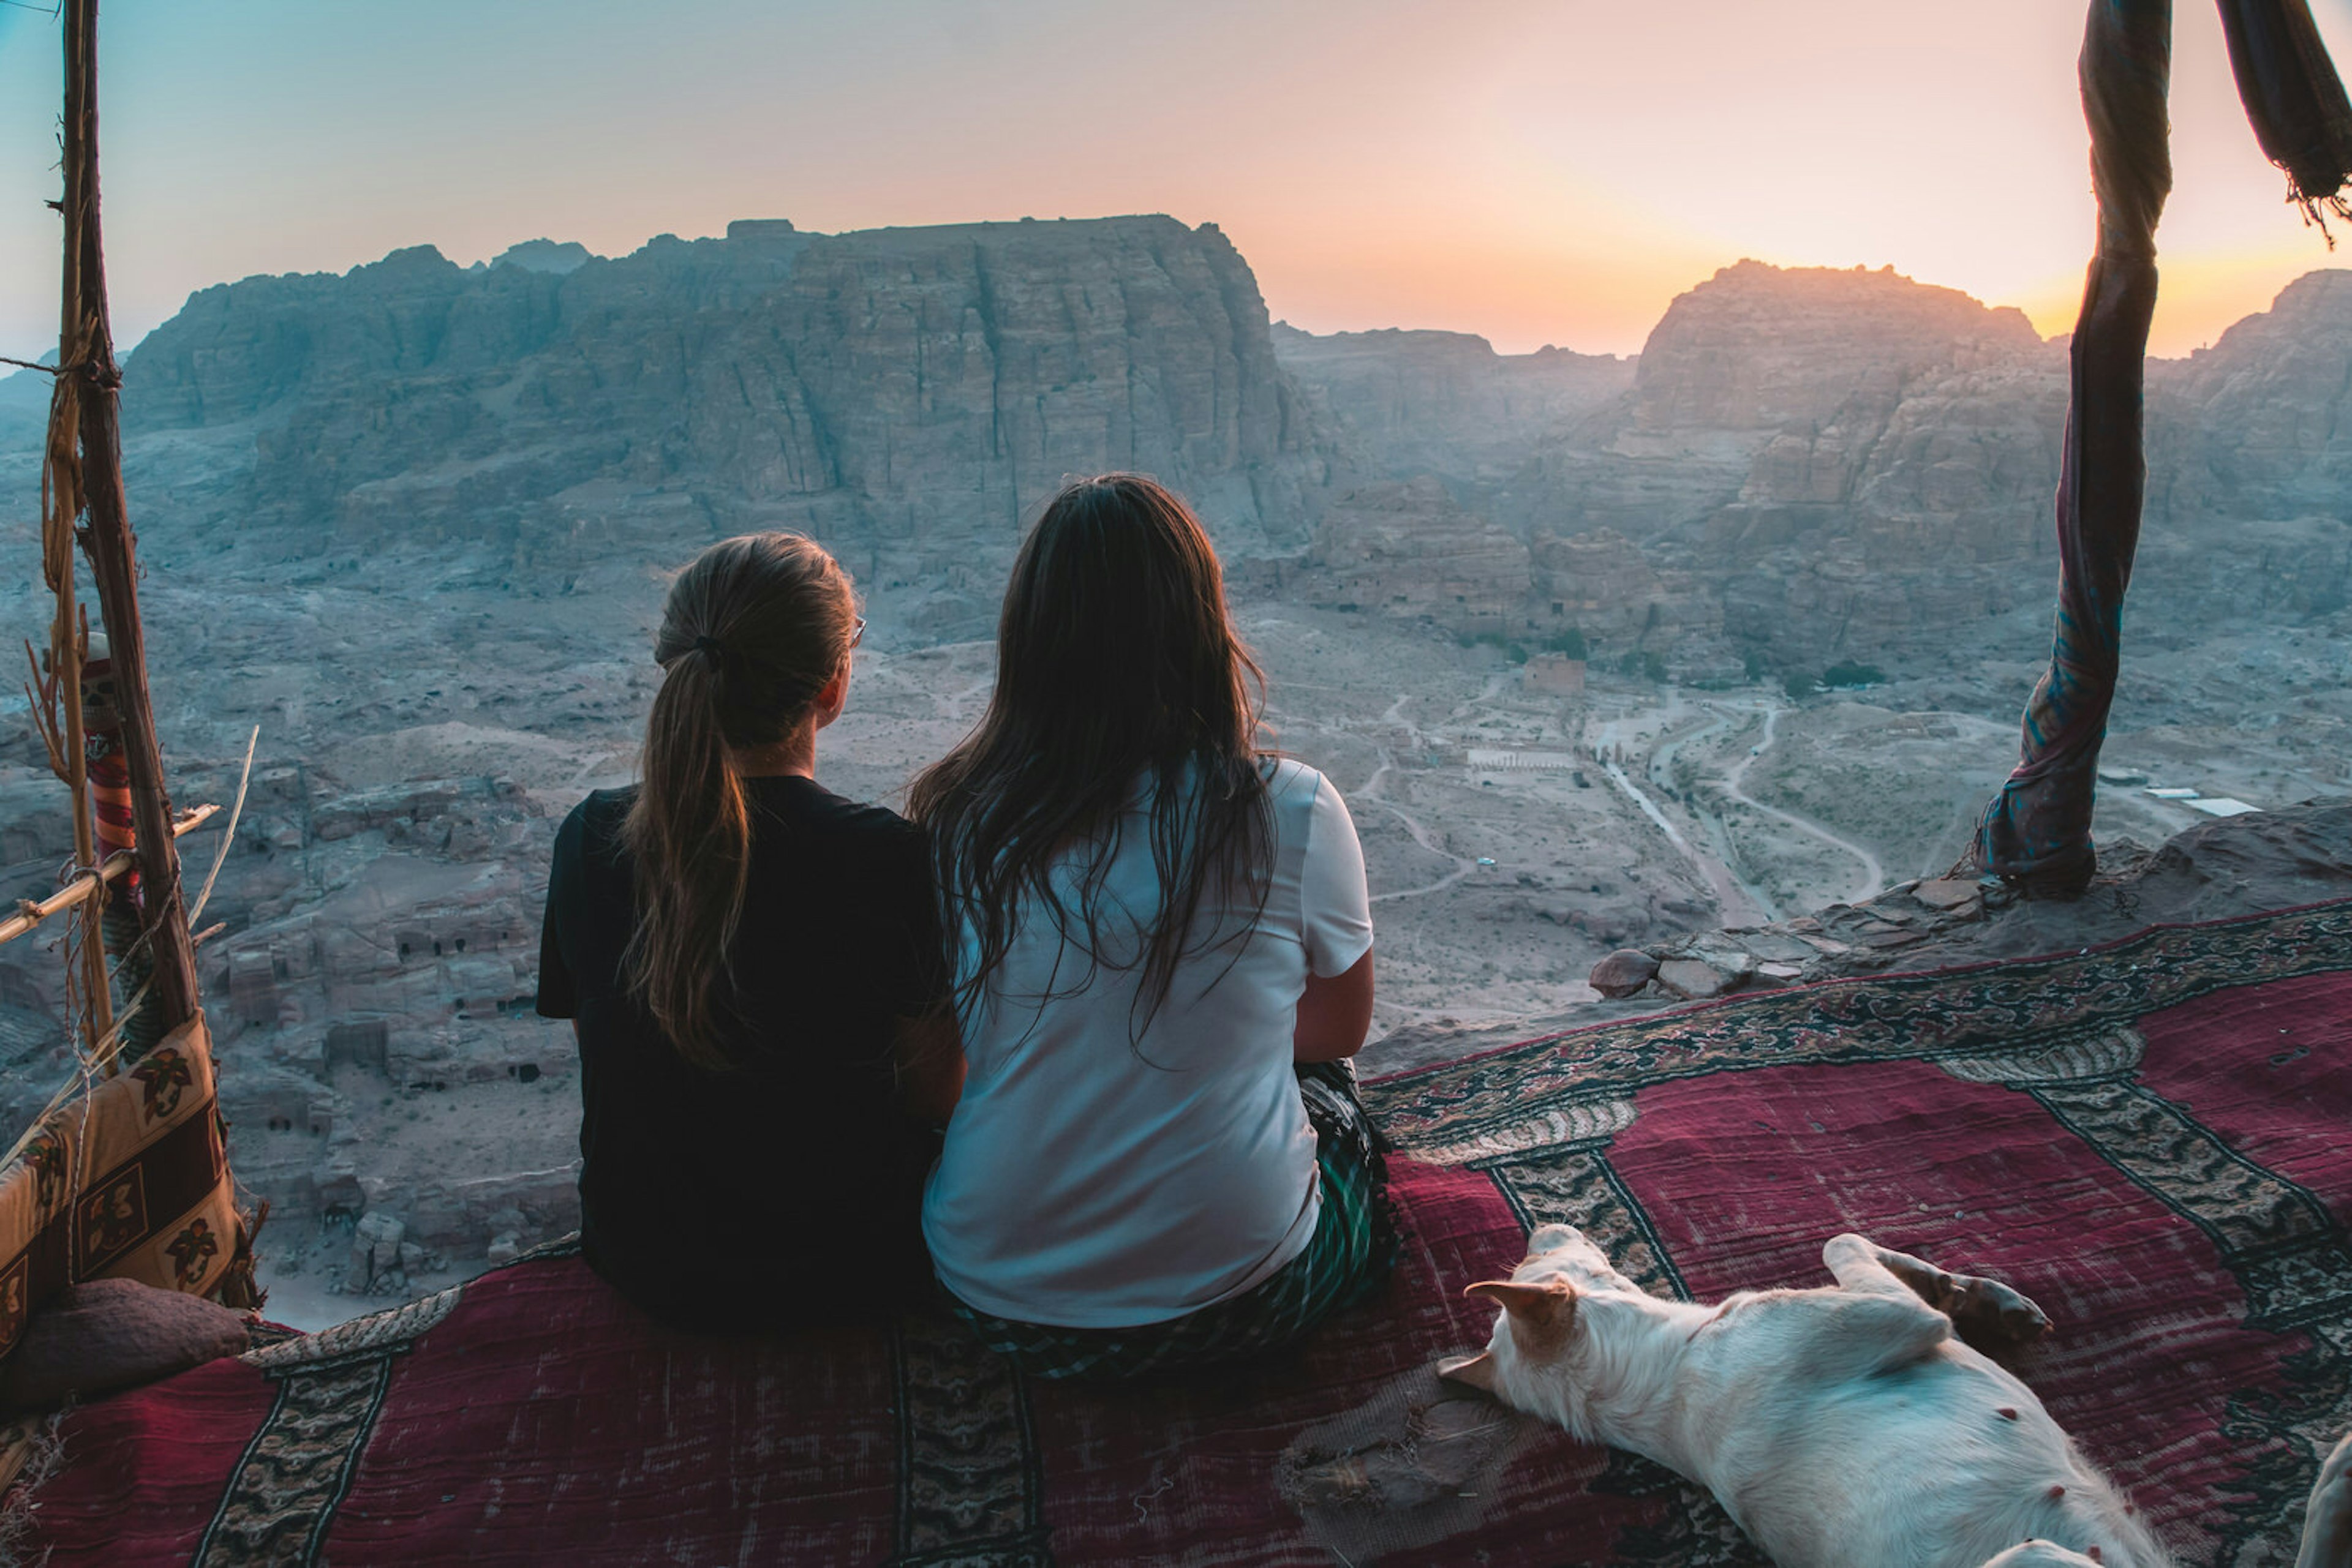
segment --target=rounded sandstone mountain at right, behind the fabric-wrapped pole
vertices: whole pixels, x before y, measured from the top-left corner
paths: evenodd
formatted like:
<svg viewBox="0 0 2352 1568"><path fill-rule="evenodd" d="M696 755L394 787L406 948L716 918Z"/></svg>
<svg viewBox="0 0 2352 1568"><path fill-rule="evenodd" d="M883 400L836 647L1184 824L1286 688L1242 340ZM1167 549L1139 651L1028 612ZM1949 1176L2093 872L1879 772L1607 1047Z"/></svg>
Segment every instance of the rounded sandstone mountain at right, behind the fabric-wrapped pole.
<svg viewBox="0 0 2352 1568"><path fill-rule="evenodd" d="M2347 273L2150 364L2136 625L2343 604L2347 395ZM1745 261L1675 301L1623 397L1543 444L1510 520L1538 562L1559 555L1548 538L1606 531L1686 574L1719 599L1722 642L1684 616L1700 663L2030 656L2065 400L2065 346L2016 310L1884 270Z"/></svg>

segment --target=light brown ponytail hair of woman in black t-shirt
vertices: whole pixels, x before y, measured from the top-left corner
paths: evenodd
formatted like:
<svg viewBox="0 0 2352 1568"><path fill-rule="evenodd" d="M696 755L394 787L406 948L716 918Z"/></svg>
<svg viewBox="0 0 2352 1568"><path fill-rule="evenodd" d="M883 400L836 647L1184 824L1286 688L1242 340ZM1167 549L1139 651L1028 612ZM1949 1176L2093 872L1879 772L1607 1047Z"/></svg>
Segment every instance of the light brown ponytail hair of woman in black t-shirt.
<svg viewBox="0 0 2352 1568"><path fill-rule="evenodd" d="M729 755L809 722L849 658L858 597L816 541L722 538L677 574L661 607L661 691L644 722L644 783L623 839L637 929L621 954L628 990L682 1058L731 1067L729 950L750 879L750 802Z"/></svg>

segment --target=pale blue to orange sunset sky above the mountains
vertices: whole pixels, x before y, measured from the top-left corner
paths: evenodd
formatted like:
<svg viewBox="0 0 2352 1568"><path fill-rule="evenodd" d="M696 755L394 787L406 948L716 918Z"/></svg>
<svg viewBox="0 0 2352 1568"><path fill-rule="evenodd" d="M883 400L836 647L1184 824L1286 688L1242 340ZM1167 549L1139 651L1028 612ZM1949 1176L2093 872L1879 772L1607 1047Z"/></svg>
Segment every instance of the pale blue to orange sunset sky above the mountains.
<svg viewBox="0 0 2352 1568"><path fill-rule="evenodd" d="M56 21L0 0L0 353L56 341ZM2314 0L2352 59L2352 0ZM1277 317L1630 353L1740 256L2072 322L2091 240L2063 0L108 0L115 322L402 244L626 254L1169 212ZM2178 9L2157 353L2331 266ZM2352 244L2345 249L2352 266Z"/></svg>

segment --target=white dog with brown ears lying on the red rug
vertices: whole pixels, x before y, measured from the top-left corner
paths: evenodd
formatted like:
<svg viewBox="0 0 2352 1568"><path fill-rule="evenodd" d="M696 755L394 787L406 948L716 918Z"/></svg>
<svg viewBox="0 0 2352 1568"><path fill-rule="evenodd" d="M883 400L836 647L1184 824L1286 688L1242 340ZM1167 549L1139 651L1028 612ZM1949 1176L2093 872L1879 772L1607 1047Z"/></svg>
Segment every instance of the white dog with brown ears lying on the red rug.
<svg viewBox="0 0 2352 1568"><path fill-rule="evenodd" d="M1698 1481L1783 1568L2166 1568L2131 1502L2023 1382L1955 1338L2018 1342L2039 1307L1863 1237L1820 1248L1837 1286L1661 1300L1581 1232L1545 1225L1484 1354L1442 1375ZM2352 1568L2352 1436L2298 1568Z"/></svg>

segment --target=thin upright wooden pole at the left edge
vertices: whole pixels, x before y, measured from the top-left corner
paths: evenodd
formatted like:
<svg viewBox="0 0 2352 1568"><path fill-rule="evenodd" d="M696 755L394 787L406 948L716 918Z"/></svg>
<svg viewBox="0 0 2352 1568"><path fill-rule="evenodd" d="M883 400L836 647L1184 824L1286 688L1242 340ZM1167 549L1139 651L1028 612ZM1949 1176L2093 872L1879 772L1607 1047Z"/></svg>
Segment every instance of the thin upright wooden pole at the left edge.
<svg viewBox="0 0 2352 1568"><path fill-rule="evenodd" d="M66 280L73 289L68 341L59 376L75 376L82 414L82 503L89 527L82 552L96 578L106 644L113 658L115 703L122 712L122 752L132 778L132 820L139 832L141 931L155 964L146 1006L160 1030L195 1018L195 945L181 903L179 849L172 839L172 799L155 745L155 705L146 682L146 635L139 625L139 555L122 498L122 367L115 364L106 315L106 254L99 244L99 0L66 0ZM78 350L78 353L73 353Z"/></svg>

